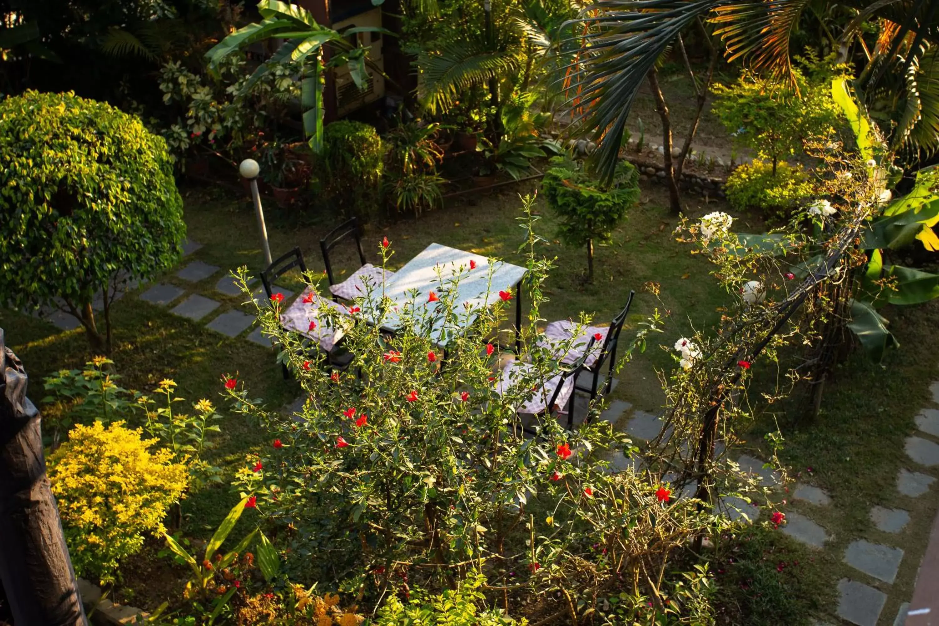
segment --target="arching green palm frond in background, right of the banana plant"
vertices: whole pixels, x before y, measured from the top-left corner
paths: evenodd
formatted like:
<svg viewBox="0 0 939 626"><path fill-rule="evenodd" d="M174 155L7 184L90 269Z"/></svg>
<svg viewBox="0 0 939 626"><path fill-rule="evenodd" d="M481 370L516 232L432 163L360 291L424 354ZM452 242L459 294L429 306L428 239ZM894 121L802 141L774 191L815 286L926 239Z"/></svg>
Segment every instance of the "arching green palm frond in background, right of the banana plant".
<svg viewBox="0 0 939 626"><path fill-rule="evenodd" d="M515 66L511 53L490 50L474 40L457 41L418 56L420 97L429 113L446 111L460 93Z"/></svg>

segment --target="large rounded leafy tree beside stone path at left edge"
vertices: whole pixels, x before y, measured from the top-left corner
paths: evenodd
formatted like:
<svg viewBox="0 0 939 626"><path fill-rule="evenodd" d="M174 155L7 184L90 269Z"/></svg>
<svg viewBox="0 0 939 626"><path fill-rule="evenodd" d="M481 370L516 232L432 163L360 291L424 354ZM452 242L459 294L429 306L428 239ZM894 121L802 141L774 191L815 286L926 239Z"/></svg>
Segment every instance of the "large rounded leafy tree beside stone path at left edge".
<svg viewBox="0 0 939 626"><path fill-rule="evenodd" d="M138 117L70 92L0 102L0 304L52 305L109 352L119 282L171 267L185 235L166 143Z"/></svg>

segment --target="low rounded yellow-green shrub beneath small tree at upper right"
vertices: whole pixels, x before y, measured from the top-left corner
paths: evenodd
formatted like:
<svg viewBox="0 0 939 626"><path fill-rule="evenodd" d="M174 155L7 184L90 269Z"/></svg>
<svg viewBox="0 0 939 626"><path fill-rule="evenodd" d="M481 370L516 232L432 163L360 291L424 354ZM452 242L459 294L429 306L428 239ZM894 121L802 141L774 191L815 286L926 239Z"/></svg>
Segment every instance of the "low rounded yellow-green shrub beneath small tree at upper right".
<svg viewBox="0 0 939 626"><path fill-rule="evenodd" d="M738 211L755 209L767 219L787 221L793 209L812 192L808 175L798 163L773 165L754 159L727 177L727 200Z"/></svg>

